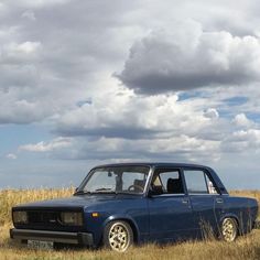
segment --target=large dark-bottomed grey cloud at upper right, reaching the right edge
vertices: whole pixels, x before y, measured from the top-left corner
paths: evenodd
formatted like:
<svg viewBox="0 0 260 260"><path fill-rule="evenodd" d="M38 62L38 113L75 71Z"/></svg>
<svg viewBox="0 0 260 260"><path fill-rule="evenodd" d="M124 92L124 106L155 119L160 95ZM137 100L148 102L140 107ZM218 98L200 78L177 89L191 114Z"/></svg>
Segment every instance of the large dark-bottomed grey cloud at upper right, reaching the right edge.
<svg viewBox="0 0 260 260"><path fill-rule="evenodd" d="M148 95L260 79L257 36L240 37L193 26L192 34L185 26L182 33L160 30L136 42L118 77Z"/></svg>

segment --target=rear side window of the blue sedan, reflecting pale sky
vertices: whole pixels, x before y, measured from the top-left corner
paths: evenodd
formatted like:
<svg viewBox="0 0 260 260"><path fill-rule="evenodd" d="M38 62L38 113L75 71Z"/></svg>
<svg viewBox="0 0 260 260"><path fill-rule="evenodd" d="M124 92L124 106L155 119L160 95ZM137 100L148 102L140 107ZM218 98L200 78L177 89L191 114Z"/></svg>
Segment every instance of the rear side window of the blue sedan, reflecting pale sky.
<svg viewBox="0 0 260 260"><path fill-rule="evenodd" d="M192 194L217 194L207 174L201 170L185 170L187 192Z"/></svg>

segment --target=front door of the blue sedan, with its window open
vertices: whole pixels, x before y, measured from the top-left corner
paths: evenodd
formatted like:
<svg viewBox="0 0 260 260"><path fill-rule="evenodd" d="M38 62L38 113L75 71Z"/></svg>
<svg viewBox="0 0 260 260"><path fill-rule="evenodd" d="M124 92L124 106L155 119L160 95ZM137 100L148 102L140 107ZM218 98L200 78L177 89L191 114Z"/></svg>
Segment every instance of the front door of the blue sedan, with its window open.
<svg viewBox="0 0 260 260"><path fill-rule="evenodd" d="M173 240L191 237L193 212L178 169L158 169L150 187L150 238Z"/></svg>

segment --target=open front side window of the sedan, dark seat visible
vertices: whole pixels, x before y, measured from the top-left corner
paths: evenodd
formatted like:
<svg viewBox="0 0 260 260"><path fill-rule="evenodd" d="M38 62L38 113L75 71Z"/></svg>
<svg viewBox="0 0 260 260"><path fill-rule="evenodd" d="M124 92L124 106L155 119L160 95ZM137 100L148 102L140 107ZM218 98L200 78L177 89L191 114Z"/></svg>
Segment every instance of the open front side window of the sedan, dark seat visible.
<svg viewBox="0 0 260 260"><path fill-rule="evenodd" d="M152 182L152 189L156 194L182 194L183 182L178 170L159 170Z"/></svg>

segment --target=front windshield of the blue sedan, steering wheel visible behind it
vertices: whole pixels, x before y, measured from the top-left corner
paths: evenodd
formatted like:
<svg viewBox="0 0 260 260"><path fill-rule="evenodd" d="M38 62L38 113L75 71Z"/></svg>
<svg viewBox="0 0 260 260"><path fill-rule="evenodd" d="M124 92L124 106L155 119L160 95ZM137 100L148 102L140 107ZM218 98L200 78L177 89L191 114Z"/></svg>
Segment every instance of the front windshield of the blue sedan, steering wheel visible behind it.
<svg viewBox="0 0 260 260"><path fill-rule="evenodd" d="M148 166L110 166L93 170L78 193L141 194L147 183Z"/></svg>

